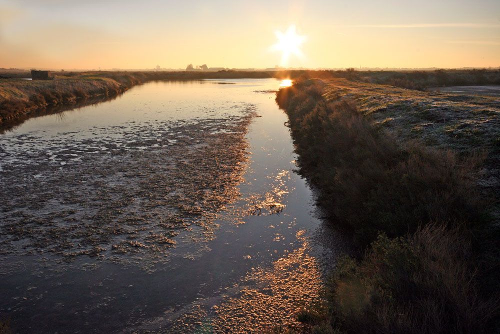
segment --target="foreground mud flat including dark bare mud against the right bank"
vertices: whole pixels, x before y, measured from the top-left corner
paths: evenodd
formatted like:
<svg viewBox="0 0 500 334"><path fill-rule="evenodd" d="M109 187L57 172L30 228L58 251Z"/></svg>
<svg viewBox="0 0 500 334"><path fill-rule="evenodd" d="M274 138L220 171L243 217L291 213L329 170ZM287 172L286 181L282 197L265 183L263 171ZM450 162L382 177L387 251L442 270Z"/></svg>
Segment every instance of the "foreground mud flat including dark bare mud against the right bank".
<svg viewBox="0 0 500 334"><path fill-rule="evenodd" d="M320 301L327 268L349 247L338 231L325 225L314 231L296 230L293 240L288 241L296 241L289 252L268 265L251 267L215 295L199 293L194 302L175 305L155 318L130 324L126 332L300 331L297 311Z"/></svg>

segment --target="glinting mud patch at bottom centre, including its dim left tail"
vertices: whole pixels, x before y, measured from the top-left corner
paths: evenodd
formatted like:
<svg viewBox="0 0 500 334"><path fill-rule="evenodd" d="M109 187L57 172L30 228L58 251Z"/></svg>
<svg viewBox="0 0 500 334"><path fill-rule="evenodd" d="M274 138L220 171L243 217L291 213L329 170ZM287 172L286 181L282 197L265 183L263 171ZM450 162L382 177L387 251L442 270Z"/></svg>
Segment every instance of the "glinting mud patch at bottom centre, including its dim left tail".
<svg viewBox="0 0 500 334"><path fill-rule="evenodd" d="M311 254L305 231L298 231L300 247L274 261L270 267L251 268L233 286L217 298L200 299L181 312L167 310L163 316L143 324L142 332L245 333L271 329L276 324L299 328L295 314L298 308L319 301L322 288L321 266ZM180 314L179 314L180 313ZM135 328L137 330L137 328Z"/></svg>

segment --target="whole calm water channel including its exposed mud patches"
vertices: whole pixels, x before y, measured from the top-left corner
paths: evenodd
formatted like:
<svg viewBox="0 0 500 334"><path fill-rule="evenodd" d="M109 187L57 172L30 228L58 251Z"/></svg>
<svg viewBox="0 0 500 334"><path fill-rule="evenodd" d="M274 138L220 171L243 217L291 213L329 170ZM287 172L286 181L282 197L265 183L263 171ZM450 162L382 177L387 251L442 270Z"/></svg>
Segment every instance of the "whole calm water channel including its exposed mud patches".
<svg viewBox="0 0 500 334"><path fill-rule="evenodd" d="M154 82L0 135L15 332L293 323L345 249L296 168L279 81Z"/></svg>

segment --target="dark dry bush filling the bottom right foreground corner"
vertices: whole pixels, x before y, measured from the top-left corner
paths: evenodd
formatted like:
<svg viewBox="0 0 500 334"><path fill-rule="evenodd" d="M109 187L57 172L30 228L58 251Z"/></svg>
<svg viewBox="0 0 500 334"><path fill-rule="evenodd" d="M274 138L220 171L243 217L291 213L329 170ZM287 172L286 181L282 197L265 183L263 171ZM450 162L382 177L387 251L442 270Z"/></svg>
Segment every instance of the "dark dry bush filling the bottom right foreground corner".
<svg viewBox="0 0 500 334"><path fill-rule="evenodd" d="M356 333L490 332L498 295L481 294L473 263L470 235L461 228L430 224L404 238L381 234L361 262L340 262L328 286L327 323Z"/></svg>

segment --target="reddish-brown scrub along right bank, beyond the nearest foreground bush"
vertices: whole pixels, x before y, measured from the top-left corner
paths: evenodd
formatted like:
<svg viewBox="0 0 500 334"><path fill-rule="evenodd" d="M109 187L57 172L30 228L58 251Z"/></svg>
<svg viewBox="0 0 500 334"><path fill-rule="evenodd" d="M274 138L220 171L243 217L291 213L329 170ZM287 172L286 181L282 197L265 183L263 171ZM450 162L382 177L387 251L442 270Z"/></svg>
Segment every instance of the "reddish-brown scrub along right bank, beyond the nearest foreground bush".
<svg viewBox="0 0 500 334"><path fill-rule="evenodd" d="M290 118L302 174L336 223L368 244L379 231L394 237L430 221L481 221L472 175L482 154L459 158L417 143L399 145L352 101L327 101L322 85L303 81L280 90L276 100Z"/></svg>

